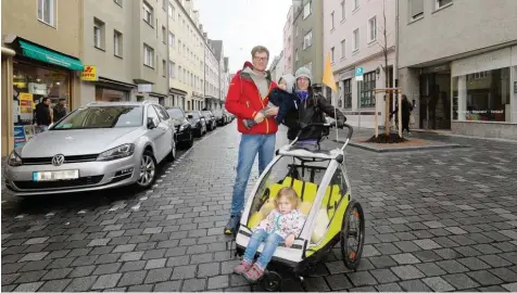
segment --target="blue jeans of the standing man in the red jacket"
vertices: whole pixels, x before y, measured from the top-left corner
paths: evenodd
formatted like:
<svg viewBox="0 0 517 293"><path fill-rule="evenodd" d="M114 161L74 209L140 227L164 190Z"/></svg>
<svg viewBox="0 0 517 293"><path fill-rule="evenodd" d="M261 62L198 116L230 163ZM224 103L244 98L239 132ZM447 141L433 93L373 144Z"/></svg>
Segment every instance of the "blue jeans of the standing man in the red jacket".
<svg viewBox="0 0 517 293"><path fill-rule="evenodd" d="M242 135L237 163L237 178L231 199L231 215L238 215L244 208L244 193L250 179L251 168L258 154L258 173L262 174L275 154L276 135Z"/></svg>

